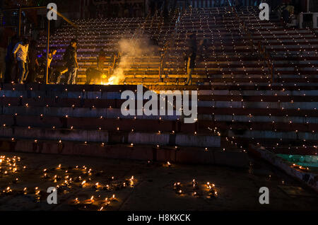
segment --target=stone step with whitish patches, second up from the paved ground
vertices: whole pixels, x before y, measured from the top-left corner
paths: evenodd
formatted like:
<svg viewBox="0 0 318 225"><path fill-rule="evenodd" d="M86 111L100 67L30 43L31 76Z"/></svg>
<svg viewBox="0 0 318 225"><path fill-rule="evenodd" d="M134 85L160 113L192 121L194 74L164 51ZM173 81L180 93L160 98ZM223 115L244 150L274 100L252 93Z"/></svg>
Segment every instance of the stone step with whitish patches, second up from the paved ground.
<svg viewBox="0 0 318 225"><path fill-rule="evenodd" d="M158 132L110 132L98 129L49 129L43 127L1 127L0 137L54 140L59 142L99 142L116 144L151 144L159 146L220 147L220 137L213 134L170 134Z"/></svg>

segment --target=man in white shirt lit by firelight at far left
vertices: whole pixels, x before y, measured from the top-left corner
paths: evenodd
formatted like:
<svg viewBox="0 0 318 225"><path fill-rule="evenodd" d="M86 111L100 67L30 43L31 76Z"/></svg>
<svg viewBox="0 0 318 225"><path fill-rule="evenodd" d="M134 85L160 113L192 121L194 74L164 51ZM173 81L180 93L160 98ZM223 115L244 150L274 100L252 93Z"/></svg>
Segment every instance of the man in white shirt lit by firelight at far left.
<svg viewBox="0 0 318 225"><path fill-rule="evenodd" d="M22 42L18 42L13 48L13 59L18 62L19 77L18 83L23 83L28 76L28 50L29 40L23 39Z"/></svg>

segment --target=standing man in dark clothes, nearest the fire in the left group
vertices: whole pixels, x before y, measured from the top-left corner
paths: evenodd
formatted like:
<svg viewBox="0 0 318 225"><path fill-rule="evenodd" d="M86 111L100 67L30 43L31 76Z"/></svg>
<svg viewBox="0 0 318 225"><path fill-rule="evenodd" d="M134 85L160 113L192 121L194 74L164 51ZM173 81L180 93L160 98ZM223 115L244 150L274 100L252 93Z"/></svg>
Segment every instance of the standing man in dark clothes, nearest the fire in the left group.
<svg viewBox="0 0 318 225"><path fill-rule="evenodd" d="M77 62L77 40L72 39L71 44L67 47L64 53L64 61L66 61L66 67L68 69L67 84L76 84L76 72L78 70Z"/></svg>

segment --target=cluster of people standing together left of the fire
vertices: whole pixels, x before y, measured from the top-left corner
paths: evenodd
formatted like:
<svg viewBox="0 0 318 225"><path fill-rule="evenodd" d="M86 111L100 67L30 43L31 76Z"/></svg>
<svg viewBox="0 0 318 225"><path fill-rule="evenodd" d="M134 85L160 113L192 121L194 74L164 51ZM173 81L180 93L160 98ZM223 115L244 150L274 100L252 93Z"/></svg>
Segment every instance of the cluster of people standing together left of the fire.
<svg viewBox="0 0 318 225"><path fill-rule="evenodd" d="M38 58L35 40L30 41L28 38L20 40L13 36L6 49L6 69L3 82L22 84L40 81L40 83L46 83L48 79L50 83L61 83L61 76L67 72L66 83L75 84L78 70L77 43L76 39L72 39L63 55L64 64L61 67L53 67L52 61L57 54L56 48L52 47L49 50L48 57L45 54Z"/></svg>

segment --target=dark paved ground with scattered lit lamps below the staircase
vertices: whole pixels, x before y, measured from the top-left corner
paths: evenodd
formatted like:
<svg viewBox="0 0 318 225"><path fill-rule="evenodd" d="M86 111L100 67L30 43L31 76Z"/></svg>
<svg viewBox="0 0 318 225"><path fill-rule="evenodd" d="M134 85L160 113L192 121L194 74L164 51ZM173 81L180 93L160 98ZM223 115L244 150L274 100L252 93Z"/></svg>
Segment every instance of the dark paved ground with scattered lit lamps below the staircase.
<svg viewBox="0 0 318 225"><path fill-rule="evenodd" d="M4 158L1 163L0 210L318 210L317 193L269 164L252 159L249 169L238 169L174 164L169 167L163 163L46 154L0 152L0 156L11 158L11 163ZM16 165L13 156L20 157L20 161L16 158ZM12 172L14 168L16 173ZM49 178L43 177L45 172ZM134 180L129 180L131 176ZM198 183L197 190L192 188L193 179ZM45 190L61 186L65 180L69 185L58 190L58 204L47 204ZM86 186L80 188L83 180ZM181 183L181 195L174 190L176 182ZM218 197L208 195L207 182L216 185ZM92 187L95 183L99 183L97 190ZM269 188L268 205L259 204L261 187ZM194 191L198 196L193 195ZM76 198L83 203L92 196L93 204L73 204ZM106 197L109 204L105 206Z"/></svg>

